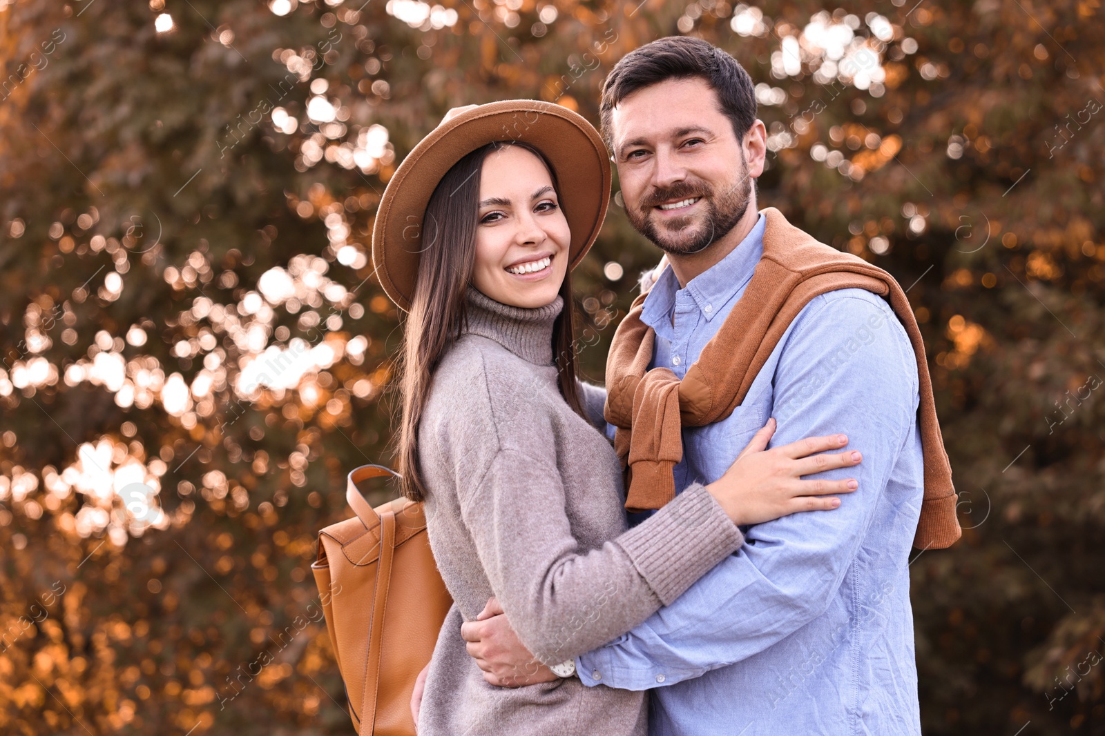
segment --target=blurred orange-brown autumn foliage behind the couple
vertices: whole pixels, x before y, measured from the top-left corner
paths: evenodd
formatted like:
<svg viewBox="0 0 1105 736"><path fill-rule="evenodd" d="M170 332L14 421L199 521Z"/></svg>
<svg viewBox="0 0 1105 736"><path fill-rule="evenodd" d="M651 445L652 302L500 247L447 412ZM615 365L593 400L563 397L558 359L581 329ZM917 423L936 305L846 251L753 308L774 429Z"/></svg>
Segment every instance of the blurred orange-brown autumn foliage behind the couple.
<svg viewBox="0 0 1105 736"><path fill-rule="evenodd" d="M761 204L925 331L968 527L912 565L925 732L1105 733L1097 0L442 2L0 0L0 732L350 733L308 566L388 460L397 158L456 105L597 120L690 33L758 83ZM612 207L593 380L657 255Z"/></svg>

